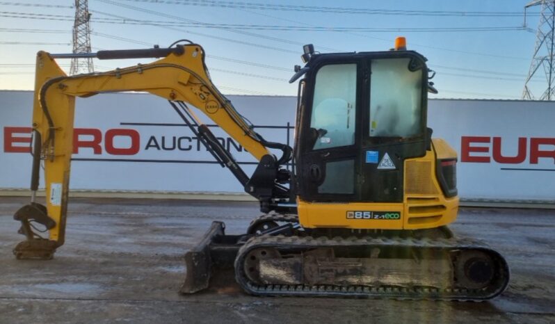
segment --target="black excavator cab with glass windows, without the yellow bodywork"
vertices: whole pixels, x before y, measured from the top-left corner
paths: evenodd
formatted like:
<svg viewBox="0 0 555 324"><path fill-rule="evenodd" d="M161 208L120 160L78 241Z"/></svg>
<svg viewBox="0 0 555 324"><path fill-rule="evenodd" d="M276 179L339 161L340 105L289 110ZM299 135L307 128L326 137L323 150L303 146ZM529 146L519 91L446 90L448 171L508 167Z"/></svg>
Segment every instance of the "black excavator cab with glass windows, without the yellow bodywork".
<svg viewBox="0 0 555 324"><path fill-rule="evenodd" d="M425 60L414 51L311 56L296 127L300 199L403 202L403 161L430 146Z"/></svg>

